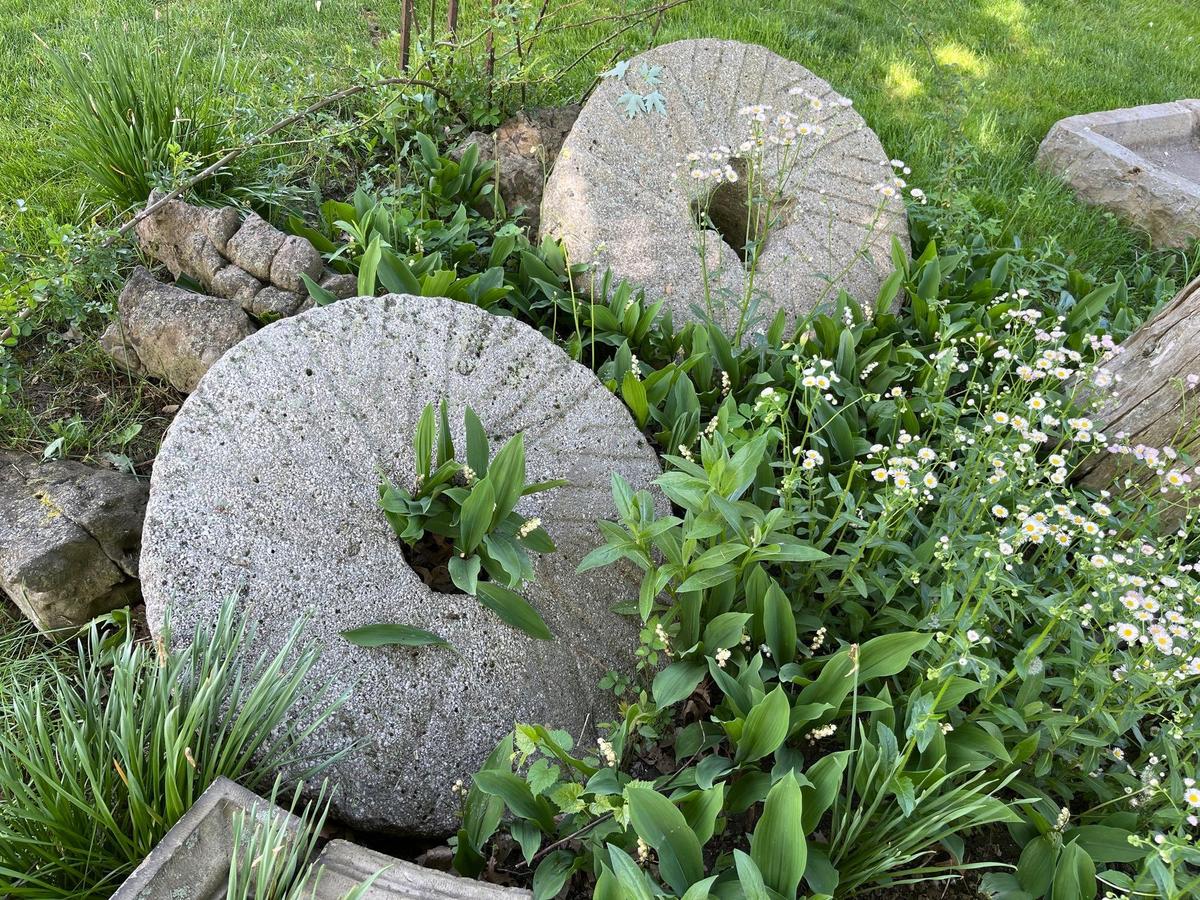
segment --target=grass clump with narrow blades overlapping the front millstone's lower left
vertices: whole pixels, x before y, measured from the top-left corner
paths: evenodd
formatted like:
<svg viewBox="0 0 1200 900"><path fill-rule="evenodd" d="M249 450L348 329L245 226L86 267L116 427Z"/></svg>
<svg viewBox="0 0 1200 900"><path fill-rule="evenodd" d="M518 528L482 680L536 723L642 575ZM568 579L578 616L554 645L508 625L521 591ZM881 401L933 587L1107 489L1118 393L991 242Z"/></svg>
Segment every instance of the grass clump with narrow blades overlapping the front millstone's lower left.
<svg viewBox="0 0 1200 900"><path fill-rule="evenodd" d="M94 625L73 671L4 697L0 894L107 898L218 776L263 790L337 758L299 750L342 700L302 696L300 634L246 661L232 601L181 649Z"/></svg>

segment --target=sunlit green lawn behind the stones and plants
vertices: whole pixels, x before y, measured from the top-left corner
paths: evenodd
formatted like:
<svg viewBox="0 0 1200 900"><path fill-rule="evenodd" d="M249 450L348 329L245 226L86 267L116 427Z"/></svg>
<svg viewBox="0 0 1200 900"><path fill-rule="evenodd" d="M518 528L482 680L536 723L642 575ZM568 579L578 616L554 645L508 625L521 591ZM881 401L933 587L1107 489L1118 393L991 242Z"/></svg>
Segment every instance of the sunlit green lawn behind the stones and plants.
<svg viewBox="0 0 1200 900"><path fill-rule="evenodd" d="M601 0L589 13L625 6ZM86 193L55 158L54 78L34 34L84 48L92 29L150 20L156 7L176 38L202 44L228 23L265 86L293 62L323 84L336 84L340 70L348 77L349 65L385 52L370 38L396 28L400 4L324 0L318 11L312 0L4 0L5 216L22 198L25 216L74 217ZM427 0L419 7L426 18ZM464 2L464 19L481 7ZM566 35L559 56L594 34ZM1102 271L1128 264L1142 241L1038 176L1030 166L1037 143L1063 115L1190 96L1200 80L1200 5L1169 0L694 0L667 14L659 40L700 35L762 43L803 62L854 98L888 151L912 164L913 184L948 180L1026 240L1056 238ZM647 37L637 29L623 40L632 50ZM580 67L547 98L583 89L593 72Z"/></svg>

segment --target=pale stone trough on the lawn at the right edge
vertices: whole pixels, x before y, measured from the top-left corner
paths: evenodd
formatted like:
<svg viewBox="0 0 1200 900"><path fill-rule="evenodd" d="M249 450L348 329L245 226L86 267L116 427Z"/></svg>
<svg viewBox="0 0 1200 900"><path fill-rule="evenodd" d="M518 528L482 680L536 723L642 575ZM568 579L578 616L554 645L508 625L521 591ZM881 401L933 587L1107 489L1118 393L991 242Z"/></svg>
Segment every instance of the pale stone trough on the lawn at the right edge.
<svg viewBox="0 0 1200 900"><path fill-rule="evenodd" d="M1062 119L1038 148L1037 164L1085 203L1147 232L1156 246L1200 239L1200 100Z"/></svg>

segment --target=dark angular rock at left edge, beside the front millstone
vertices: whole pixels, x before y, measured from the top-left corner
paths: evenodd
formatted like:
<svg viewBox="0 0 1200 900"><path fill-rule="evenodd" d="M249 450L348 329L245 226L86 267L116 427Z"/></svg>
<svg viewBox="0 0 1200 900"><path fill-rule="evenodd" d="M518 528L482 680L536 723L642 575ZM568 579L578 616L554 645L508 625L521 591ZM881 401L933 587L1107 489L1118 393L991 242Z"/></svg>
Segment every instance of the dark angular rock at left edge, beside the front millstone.
<svg viewBox="0 0 1200 900"><path fill-rule="evenodd" d="M43 631L138 598L146 485L0 451L0 588Z"/></svg>

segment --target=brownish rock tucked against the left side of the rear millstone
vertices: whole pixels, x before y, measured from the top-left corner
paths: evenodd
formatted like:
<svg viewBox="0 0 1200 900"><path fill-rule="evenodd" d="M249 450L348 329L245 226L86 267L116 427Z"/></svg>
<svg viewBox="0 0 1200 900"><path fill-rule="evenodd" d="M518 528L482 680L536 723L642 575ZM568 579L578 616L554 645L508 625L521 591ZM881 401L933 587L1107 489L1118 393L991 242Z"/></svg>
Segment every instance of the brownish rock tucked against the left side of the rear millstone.
<svg viewBox="0 0 1200 900"><path fill-rule="evenodd" d="M523 206L523 217L530 230L536 233L546 175L580 109L578 103L572 103L522 110L492 134L472 132L455 155L462 158L466 148L475 144L481 160L496 162L500 197L509 210Z"/></svg>

